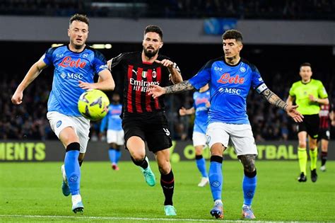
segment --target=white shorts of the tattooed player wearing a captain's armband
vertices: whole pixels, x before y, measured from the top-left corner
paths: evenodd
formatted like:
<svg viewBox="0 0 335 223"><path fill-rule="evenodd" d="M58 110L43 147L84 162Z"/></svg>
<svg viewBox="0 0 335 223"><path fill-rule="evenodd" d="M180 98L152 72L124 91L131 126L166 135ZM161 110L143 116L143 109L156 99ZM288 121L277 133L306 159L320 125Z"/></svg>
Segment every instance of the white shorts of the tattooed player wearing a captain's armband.
<svg viewBox="0 0 335 223"><path fill-rule="evenodd" d="M228 142L230 140L237 156L258 154L252 128L249 124L236 125L212 122L207 127L206 136L210 148L217 142L220 142L225 148L228 148Z"/></svg>

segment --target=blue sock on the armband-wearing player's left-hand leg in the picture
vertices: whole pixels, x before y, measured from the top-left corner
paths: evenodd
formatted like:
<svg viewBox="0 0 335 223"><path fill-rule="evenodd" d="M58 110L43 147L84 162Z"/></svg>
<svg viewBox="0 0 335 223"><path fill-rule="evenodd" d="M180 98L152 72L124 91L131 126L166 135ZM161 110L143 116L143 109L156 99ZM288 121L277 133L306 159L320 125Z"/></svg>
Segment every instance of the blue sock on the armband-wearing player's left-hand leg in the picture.
<svg viewBox="0 0 335 223"><path fill-rule="evenodd" d="M221 200L222 183L223 183L222 163L212 161L211 158L211 165L209 166L209 184L211 185L211 193L214 201Z"/></svg>

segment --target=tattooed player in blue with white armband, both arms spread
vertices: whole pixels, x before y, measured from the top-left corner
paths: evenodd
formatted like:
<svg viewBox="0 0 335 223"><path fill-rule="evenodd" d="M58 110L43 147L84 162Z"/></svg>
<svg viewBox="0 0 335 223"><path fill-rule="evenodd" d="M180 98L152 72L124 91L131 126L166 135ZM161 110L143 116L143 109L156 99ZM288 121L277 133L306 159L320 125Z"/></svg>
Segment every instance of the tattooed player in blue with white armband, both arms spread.
<svg viewBox="0 0 335 223"><path fill-rule="evenodd" d="M211 59L200 71L187 81L173 86L160 87L152 85L149 94L157 98L165 93L199 89L209 84L211 106L208 113L206 135L211 148L211 164L209 167L209 183L213 195L214 207L211 215L223 218L223 202L221 199L223 173L223 151L230 140L235 147L237 158L244 167L242 189L244 202L242 217L254 219L251 209L252 199L257 185L255 159L257 147L254 143L252 129L249 124L246 100L250 87L256 89L266 101L288 112L296 122L302 121L302 115L295 110L298 106L287 105L264 84L258 69L240 57L242 50L242 34L237 30L223 33L224 57Z"/></svg>

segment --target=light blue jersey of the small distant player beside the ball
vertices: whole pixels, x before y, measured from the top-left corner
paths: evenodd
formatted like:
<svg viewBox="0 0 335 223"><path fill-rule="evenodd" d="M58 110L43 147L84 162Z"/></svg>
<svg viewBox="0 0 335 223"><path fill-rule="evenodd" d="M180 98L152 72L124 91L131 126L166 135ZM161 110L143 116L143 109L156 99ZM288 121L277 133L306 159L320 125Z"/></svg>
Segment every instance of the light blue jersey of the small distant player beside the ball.
<svg viewBox="0 0 335 223"><path fill-rule="evenodd" d="M122 113L121 104L117 105L110 104L107 115L101 121L100 132L105 131L106 125L107 130L114 130L114 131L122 130L122 119L120 118L121 113Z"/></svg>

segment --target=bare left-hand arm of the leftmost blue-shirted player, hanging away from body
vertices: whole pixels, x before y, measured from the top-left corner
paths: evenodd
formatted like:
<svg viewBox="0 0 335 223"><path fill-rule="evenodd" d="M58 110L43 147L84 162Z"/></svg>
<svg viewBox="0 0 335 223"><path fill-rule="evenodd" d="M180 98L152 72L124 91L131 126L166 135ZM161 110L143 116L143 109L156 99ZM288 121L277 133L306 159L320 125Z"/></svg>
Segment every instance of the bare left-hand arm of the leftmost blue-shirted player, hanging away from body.
<svg viewBox="0 0 335 223"><path fill-rule="evenodd" d="M15 93L11 97L11 102L13 104L19 105L22 103L23 91L29 86L31 82L35 80L38 75L40 75L42 69L45 69L45 67L47 67L47 64L45 64L42 58L30 67L28 73L25 74L25 78L18 85L18 88L16 88Z"/></svg>

